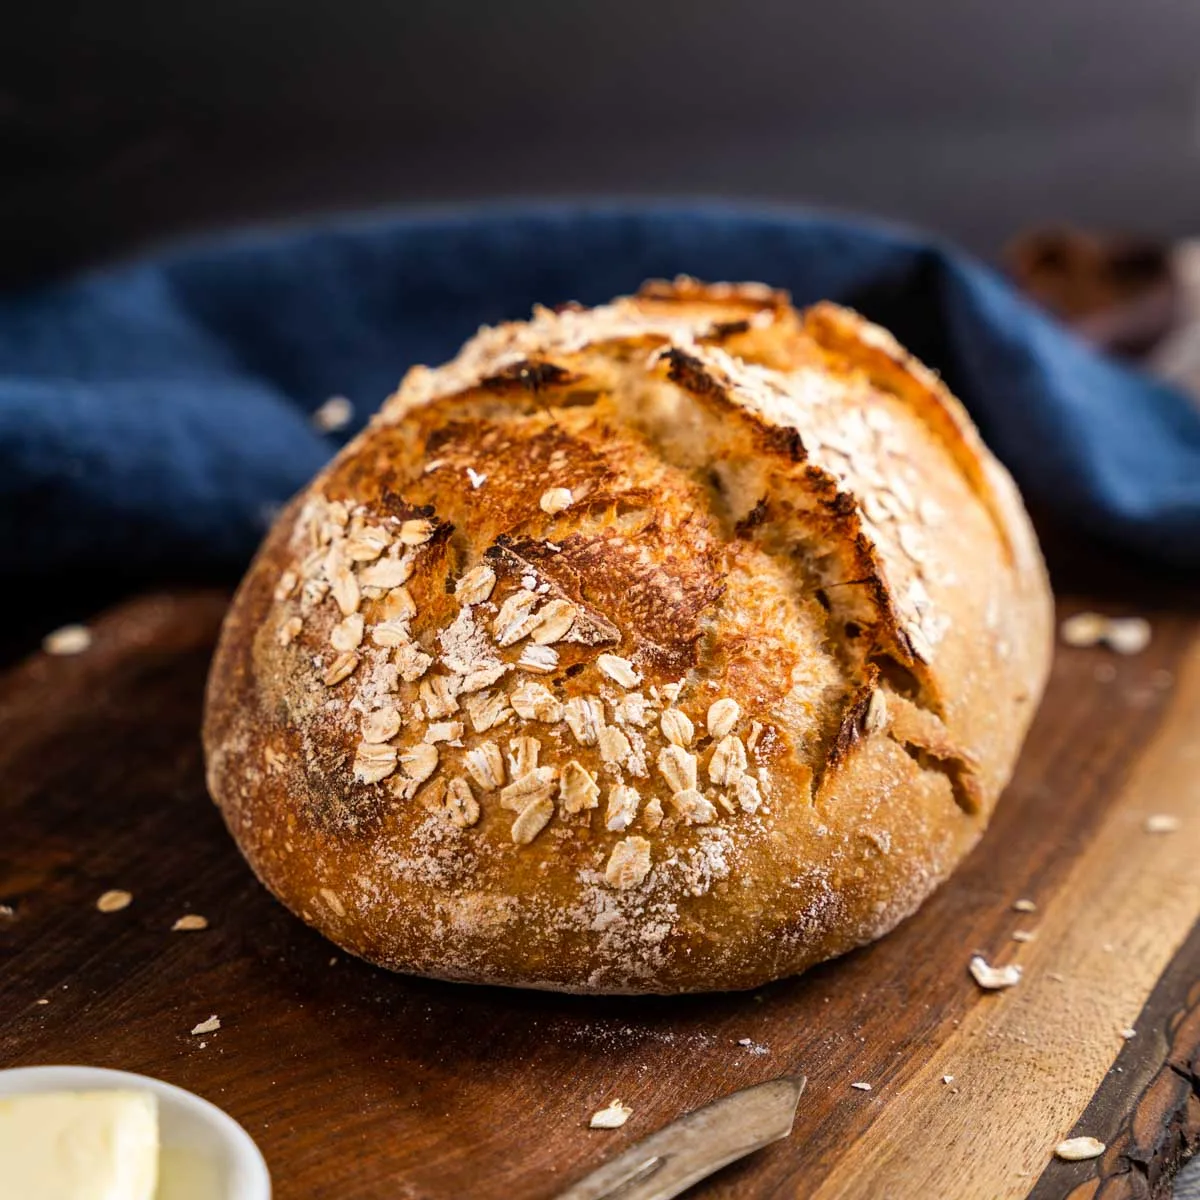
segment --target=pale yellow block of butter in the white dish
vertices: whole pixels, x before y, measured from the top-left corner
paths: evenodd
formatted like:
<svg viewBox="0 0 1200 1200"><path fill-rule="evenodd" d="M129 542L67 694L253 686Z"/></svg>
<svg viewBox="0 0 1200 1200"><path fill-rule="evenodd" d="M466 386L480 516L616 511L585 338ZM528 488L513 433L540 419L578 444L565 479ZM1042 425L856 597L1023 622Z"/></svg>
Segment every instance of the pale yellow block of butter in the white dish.
<svg viewBox="0 0 1200 1200"><path fill-rule="evenodd" d="M150 1093L0 1098L0 1200L154 1200L157 1182Z"/></svg>

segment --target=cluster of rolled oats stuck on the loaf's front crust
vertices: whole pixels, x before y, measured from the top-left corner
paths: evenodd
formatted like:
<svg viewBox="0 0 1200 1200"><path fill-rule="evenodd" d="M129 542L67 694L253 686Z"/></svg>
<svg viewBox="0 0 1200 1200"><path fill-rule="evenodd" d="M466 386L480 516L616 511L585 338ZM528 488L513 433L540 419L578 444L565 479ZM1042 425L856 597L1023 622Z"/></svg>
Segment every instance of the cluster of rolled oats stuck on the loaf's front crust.
<svg viewBox="0 0 1200 1200"><path fill-rule="evenodd" d="M547 492L541 506L559 511L554 505L565 505L553 491L565 490ZM595 655L594 694L563 701L546 686L540 677L558 667L556 646L594 637L581 608L547 595L550 584L532 568L500 594L487 563L472 566L454 582L454 620L432 638L414 638L418 611L406 584L436 529L428 518L379 518L313 496L296 522L302 554L275 592L282 644L306 625L329 628L312 670L325 688L342 689L358 721L359 784L383 784L396 800L460 828L494 805L512 814L518 846L556 814L602 808L610 832L638 830L608 858L605 878L618 889L636 887L650 870L644 834L758 810L762 781L750 756L763 730L742 719L737 701L719 697L696 714L708 743L700 751L696 720L676 707L682 685L642 690L637 667L618 654ZM468 725L490 737L466 745ZM599 778L574 758L562 768L540 764L548 737L595 748ZM666 785L666 808L656 797L643 803L638 784L654 776Z"/></svg>

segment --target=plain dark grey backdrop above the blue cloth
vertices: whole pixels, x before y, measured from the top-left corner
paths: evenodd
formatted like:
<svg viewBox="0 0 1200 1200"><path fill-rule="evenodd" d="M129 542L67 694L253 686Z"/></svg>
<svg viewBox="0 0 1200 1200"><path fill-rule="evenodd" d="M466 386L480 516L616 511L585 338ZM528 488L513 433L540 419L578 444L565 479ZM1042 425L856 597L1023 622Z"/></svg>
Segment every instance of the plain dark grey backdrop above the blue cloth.
<svg viewBox="0 0 1200 1200"><path fill-rule="evenodd" d="M0 30L0 278L496 196L1200 226L1200 0L172 0Z"/></svg>

